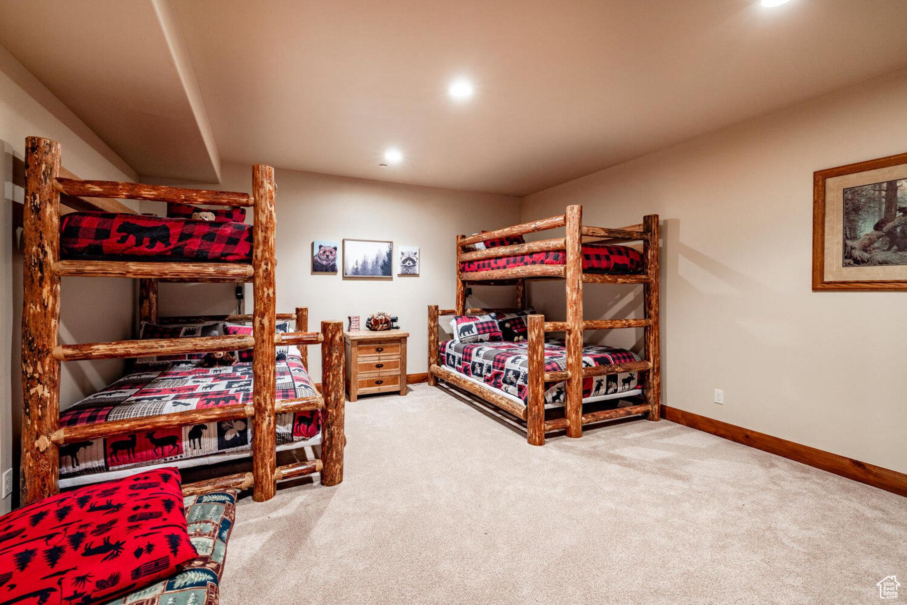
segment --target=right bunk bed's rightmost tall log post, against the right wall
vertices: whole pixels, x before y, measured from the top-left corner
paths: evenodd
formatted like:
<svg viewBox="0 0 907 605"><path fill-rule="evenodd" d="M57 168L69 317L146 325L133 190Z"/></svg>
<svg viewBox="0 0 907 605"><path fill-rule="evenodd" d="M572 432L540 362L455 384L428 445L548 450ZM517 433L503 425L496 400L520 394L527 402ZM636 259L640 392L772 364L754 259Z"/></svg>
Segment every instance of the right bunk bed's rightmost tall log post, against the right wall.
<svg viewBox="0 0 907 605"><path fill-rule="evenodd" d="M661 350L658 334L658 214L647 214L643 228L649 235L643 241L642 254L649 281L643 286L646 319L651 324L645 327L645 356L652 367L646 372L642 392L649 403L649 420L661 419Z"/></svg>

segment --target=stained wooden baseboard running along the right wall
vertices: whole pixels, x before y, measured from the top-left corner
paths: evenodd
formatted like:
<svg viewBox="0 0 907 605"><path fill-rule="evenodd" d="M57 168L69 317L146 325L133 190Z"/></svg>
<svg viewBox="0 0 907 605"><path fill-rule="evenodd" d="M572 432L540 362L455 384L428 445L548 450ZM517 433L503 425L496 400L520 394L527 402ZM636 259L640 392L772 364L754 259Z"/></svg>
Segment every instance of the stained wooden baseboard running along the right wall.
<svg viewBox="0 0 907 605"><path fill-rule="evenodd" d="M886 492L907 496L907 474L904 473L825 452L809 445L795 444L793 441L750 431L736 426L736 424L727 424L720 420L678 410L676 407L668 407L668 405L661 406L661 417L673 423L723 437L737 444L749 445L769 454L776 454L829 473L839 474L842 477L853 479L853 481L878 487Z"/></svg>

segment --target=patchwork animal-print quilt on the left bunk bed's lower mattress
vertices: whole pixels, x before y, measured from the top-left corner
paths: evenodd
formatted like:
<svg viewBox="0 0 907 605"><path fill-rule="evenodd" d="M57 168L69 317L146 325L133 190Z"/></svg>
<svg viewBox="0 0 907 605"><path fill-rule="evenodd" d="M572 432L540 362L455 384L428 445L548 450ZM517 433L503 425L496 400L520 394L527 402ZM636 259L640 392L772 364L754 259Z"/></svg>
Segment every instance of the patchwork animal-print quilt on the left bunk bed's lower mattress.
<svg viewBox="0 0 907 605"><path fill-rule="evenodd" d="M297 356L277 362L277 398L316 395ZM172 414L218 405L252 403L252 364L201 367L190 363L136 372L73 405L60 415L61 426ZM277 442L311 439L321 431L318 410L277 415ZM100 473L249 451L252 424L247 419L187 424L65 444L60 475Z"/></svg>

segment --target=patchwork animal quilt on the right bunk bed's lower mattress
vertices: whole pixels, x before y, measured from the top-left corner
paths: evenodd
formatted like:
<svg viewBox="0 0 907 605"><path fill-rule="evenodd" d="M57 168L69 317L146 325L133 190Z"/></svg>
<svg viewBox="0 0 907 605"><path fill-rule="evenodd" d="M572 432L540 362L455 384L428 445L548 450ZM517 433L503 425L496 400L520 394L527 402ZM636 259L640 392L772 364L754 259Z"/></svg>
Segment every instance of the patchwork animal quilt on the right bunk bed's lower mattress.
<svg viewBox="0 0 907 605"><path fill-rule="evenodd" d="M525 404L528 397L527 384L529 377L528 346L525 342L480 342L462 343L448 340L439 346L438 359L455 372L471 376L485 385L496 388L507 395L522 399ZM582 365L610 366L611 364L639 361L639 356L614 346L586 345L582 348ZM558 372L566 369L567 355L564 341L560 338L545 340L545 371ZM583 399L600 398L638 388L639 376L636 372L612 374L609 376L589 376L582 382ZM564 405L564 386L560 383L545 385L545 403Z"/></svg>

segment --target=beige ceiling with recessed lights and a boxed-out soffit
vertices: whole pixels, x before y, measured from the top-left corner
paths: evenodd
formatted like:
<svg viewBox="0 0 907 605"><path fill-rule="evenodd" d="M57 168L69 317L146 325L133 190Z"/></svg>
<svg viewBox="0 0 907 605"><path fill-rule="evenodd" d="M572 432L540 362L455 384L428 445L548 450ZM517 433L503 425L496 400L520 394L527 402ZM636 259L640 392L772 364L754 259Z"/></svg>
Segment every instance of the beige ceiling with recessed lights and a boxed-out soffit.
<svg viewBox="0 0 907 605"><path fill-rule="evenodd" d="M64 23L34 19L35 6L64 7ZM210 173L219 154L523 195L907 64L905 0L775 9L758 0L0 0L0 10L0 44L104 141L141 174L182 178ZM31 44L35 33L57 42ZM445 93L458 75L476 85L468 102ZM199 145L206 117L216 148ZM391 145L405 161L379 168ZM161 165L165 147L180 149L167 161L181 169Z"/></svg>

